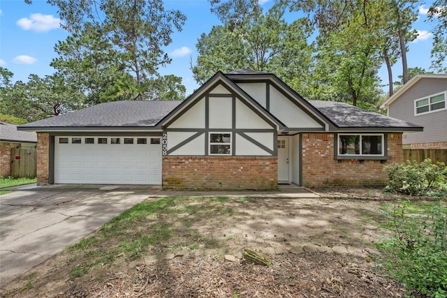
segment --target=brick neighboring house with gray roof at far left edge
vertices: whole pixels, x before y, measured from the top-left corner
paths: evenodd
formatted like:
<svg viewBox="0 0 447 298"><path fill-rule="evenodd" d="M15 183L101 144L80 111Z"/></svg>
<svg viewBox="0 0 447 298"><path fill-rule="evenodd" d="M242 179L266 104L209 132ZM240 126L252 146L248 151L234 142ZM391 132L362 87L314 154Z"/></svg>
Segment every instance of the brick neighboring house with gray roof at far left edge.
<svg viewBox="0 0 447 298"><path fill-rule="evenodd" d="M10 175L11 149L36 148L37 135L17 131L17 125L0 122L0 177Z"/></svg>

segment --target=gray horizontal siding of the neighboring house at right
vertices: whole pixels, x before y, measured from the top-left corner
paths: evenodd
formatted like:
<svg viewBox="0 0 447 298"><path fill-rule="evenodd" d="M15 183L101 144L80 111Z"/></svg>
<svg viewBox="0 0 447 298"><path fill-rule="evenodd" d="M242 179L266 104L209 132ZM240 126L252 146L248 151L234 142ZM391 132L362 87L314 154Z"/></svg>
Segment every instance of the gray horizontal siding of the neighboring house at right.
<svg viewBox="0 0 447 298"><path fill-rule="evenodd" d="M397 119L419 124L424 131L404 133L403 144L447 141L447 110L414 114L414 100L439 94L447 90L445 78L421 78L419 82L408 89L400 98L390 104L388 115Z"/></svg>

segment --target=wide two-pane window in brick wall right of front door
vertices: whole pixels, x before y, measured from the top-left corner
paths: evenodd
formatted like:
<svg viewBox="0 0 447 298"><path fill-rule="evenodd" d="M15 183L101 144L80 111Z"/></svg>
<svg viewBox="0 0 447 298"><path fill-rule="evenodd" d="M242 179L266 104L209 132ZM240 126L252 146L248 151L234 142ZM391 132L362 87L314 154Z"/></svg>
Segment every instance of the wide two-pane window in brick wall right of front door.
<svg viewBox="0 0 447 298"><path fill-rule="evenodd" d="M383 135L338 135L338 154L383 156Z"/></svg>

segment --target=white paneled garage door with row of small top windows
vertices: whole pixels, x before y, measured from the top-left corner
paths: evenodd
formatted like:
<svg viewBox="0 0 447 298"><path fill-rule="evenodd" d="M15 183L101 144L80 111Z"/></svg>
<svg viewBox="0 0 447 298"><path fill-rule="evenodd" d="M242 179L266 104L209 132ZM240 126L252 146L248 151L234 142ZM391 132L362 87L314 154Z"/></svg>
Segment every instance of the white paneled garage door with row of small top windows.
<svg viewBox="0 0 447 298"><path fill-rule="evenodd" d="M55 184L161 184L160 137L55 137Z"/></svg>

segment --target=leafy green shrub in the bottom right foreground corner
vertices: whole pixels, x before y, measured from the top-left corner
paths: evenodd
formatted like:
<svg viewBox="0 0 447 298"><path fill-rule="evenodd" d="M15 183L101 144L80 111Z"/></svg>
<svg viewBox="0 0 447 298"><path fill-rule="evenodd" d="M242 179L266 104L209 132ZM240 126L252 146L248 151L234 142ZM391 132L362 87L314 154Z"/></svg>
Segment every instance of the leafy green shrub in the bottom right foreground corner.
<svg viewBox="0 0 447 298"><path fill-rule="evenodd" d="M381 263L407 289L427 297L447 297L447 203L414 211L404 203L387 214L391 239L377 244ZM413 209L413 211L412 211Z"/></svg>

